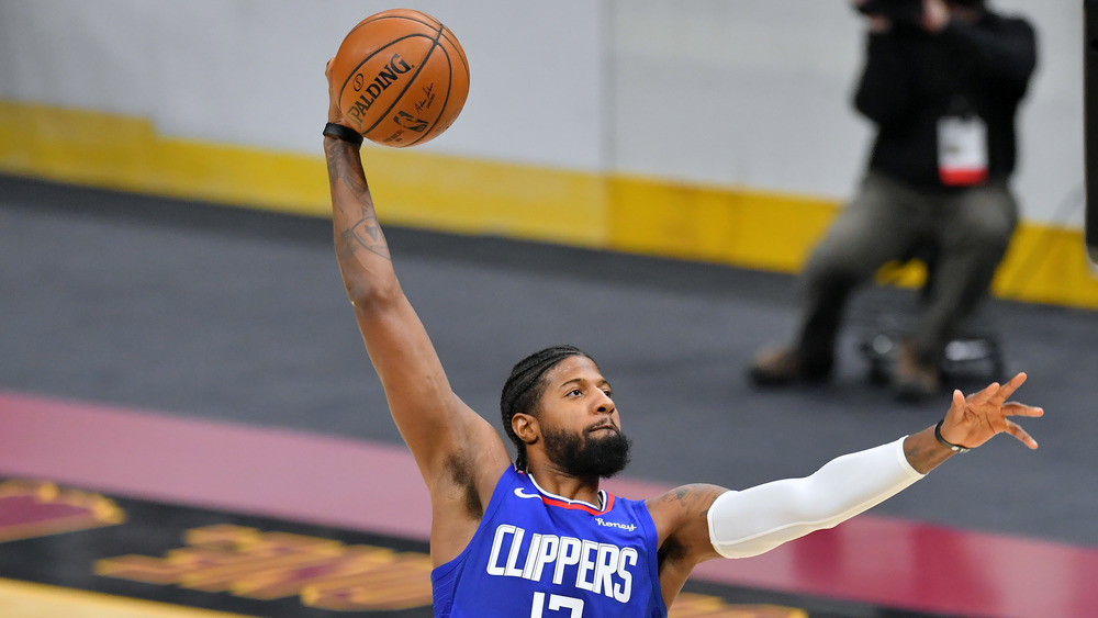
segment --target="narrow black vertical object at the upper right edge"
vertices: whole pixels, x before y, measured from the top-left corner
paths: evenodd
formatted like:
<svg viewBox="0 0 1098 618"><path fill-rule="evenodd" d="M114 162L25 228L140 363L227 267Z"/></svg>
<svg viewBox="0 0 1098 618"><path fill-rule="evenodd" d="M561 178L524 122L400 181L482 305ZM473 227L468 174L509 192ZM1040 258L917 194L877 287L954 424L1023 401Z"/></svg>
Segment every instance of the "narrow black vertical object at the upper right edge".
<svg viewBox="0 0 1098 618"><path fill-rule="evenodd" d="M1090 262L1098 265L1098 0L1084 0L1083 117L1087 209L1086 244Z"/></svg>

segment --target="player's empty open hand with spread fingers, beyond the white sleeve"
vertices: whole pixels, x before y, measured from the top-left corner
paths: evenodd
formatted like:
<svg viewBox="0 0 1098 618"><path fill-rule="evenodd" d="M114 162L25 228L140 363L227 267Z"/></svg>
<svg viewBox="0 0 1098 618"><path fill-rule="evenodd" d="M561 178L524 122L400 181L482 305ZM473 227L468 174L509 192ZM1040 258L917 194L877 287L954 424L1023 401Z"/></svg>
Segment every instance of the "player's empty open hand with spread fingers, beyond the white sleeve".
<svg viewBox="0 0 1098 618"><path fill-rule="evenodd" d="M1007 401L1024 382L1026 374L1018 373L1006 384L993 382L983 391L967 397L961 391L953 391L953 403L942 422L942 438L972 449L990 440L997 434L1006 432L1027 447L1035 449L1037 440L1009 418L1044 414L1044 409L1040 407Z"/></svg>

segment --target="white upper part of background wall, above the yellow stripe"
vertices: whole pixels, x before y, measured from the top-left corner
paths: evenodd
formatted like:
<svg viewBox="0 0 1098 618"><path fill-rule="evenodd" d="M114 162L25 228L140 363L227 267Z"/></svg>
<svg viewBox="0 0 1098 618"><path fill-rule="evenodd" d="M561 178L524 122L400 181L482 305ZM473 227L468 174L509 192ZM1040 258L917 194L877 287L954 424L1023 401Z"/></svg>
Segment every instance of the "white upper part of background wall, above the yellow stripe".
<svg viewBox="0 0 1098 618"><path fill-rule="evenodd" d="M842 199L866 154L843 0L423 0L472 86L423 149ZM1017 187L1030 221L1082 225L1082 2L1024 12L1040 65ZM152 119L169 135L317 153L323 67L374 0L0 0L0 99Z"/></svg>

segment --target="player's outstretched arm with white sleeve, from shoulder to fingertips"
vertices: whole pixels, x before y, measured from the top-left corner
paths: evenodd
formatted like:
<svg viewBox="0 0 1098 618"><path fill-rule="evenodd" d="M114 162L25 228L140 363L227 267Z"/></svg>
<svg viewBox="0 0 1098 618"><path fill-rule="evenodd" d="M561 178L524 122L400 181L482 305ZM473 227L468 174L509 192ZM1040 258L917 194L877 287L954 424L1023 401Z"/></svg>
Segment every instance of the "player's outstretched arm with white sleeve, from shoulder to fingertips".
<svg viewBox="0 0 1098 618"><path fill-rule="evenodd" d="M1044 414L1039 407L1007 402L1024 381L1026 374L1019 373L1006 384L993 383L967 397L954 391L941 424L942 438L976 448L1005 432L1035 449L1033 438L1009 418ZM831 528L899 493L955 454L938 439L935 427L836 458L804 479L739 492L684 485L648 501L659 530L664 592L666 586L681 586L699 562L758 555Z"/></svg>

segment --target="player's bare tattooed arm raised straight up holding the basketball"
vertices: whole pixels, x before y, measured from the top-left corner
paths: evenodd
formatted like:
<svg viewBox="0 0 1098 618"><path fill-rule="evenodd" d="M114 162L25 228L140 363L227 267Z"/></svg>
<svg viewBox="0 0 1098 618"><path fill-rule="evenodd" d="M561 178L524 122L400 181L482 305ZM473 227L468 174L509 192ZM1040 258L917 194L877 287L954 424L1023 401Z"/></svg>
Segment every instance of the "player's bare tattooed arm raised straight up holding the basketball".
<svg viewBox="0 0 1098 618"><path fill-rule="evenodd" d="M330 90L328 121L344 124ZM324 150L339 271L390 412L430 492L432 555L441 564L472 537L511 458L500 434L450 389L401 289L358 146L325 137Z"/></svg>

